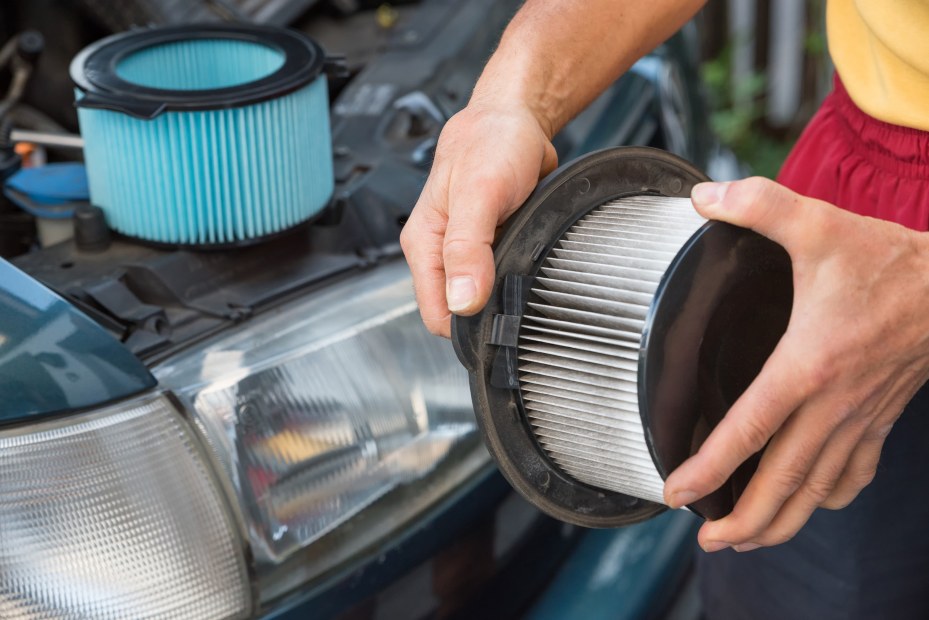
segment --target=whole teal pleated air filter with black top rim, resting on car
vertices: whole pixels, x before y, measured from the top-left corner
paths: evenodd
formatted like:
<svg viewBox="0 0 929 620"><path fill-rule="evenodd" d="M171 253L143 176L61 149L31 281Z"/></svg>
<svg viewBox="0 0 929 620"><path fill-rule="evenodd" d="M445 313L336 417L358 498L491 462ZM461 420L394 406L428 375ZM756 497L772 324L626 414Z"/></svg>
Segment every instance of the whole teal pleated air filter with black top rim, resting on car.
<svg viewBox="0 0 929 620"><path fill-rule="evenodd" d="M109 226L173 246L253 243L333 191L322 48L255 25L115 35L71 64L91 201Z"/></svg>

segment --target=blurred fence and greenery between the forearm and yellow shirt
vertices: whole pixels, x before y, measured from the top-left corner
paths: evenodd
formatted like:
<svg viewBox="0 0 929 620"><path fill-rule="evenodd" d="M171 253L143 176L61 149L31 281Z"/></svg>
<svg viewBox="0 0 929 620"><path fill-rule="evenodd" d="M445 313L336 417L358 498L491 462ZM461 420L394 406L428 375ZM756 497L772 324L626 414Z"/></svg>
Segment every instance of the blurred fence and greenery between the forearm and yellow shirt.
<svg viewBox="0 0 929 620"><path fill-rule="evenodd" d="M774 178L832 87L825 0L710 0L701 74L710 124L753 174Z"/></svg>

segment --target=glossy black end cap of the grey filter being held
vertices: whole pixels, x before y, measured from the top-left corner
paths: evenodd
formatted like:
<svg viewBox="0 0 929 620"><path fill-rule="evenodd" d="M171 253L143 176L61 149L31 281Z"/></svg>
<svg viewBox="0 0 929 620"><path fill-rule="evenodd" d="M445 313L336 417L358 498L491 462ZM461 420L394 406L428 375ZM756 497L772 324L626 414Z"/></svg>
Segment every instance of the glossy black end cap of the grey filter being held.
<svg viewBox="0 0 929 620"><path fill-rule="evenodd" d="M758 233L711 222L681 248L655 293L640 349L639 413L663 478L761 371L792 303L790 256ZM708 519L729 514L760 457L690 508Z"/></svg>

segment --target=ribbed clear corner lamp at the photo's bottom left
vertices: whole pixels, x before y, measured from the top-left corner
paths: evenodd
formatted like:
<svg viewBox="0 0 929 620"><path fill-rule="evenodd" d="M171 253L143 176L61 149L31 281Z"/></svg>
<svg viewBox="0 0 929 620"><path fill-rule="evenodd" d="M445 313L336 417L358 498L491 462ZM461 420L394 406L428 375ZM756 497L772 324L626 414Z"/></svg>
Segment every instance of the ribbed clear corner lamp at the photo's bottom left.
<svg viewBox="0 0 929 620"><path fill-rule="evenodd" d="M240 526L161 396L0 430L0 618L241 618Z"/></svg>

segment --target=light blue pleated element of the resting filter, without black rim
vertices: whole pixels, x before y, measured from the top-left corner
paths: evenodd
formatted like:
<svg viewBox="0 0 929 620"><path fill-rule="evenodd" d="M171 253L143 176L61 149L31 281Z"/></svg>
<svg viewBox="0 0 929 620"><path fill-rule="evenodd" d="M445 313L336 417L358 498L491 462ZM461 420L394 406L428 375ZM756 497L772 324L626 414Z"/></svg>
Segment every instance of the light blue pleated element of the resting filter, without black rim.
<svg viewBox="0 0 929 620"><path fill-rule="evenodd" d="M178 99L234 94L286 60L258 42L198 38L142 47L113 64L124 83ZM177 245L247 242L312 218L332 195L325 75L250 105L174 106L152 118L85 107L85 96L79 83L91 201L120 233Z"/></svg>

